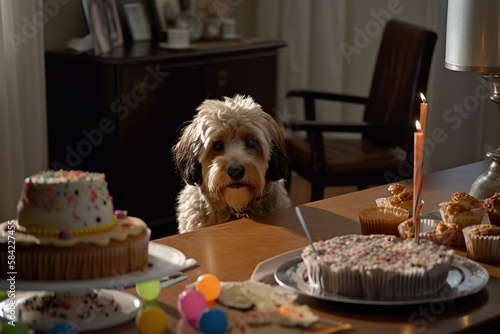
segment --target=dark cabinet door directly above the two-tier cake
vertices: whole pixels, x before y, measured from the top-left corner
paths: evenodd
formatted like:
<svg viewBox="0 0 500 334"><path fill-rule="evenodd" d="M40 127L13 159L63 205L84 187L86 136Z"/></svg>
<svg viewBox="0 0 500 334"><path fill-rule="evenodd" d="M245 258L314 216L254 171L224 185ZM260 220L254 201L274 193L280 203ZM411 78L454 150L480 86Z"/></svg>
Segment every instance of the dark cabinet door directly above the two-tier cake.
<svg viewBox="0 0 500 334"><path fill-rule="evenodd" d="M77 56L49 54L45 61L50 168L105 173L119 202L114 68Z"/></svg>

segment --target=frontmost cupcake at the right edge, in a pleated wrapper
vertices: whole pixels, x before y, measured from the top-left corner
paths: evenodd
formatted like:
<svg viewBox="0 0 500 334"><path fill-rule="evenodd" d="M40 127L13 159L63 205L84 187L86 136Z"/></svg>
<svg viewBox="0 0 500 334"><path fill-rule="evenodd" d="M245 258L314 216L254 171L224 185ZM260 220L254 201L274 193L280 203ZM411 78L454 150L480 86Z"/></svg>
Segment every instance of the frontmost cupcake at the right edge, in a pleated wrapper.
<svg viewBox="0 0 500 334"><path fill-rule="evenodd" d="M467 257L481 262L500 261L500 227L492 224L467 226L462 230Z"/></svg>

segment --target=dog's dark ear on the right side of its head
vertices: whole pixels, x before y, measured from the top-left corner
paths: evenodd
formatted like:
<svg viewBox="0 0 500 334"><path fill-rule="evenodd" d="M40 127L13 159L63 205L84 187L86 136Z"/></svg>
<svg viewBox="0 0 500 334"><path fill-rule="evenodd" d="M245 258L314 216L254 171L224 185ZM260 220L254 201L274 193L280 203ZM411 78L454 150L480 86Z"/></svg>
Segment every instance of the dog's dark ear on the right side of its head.
<svg viewBox="0 0 500 334"><path fill-rule="evenodd" d="M276 121L268 115L268 124L272 134L271 159L266 172L266 179L269 181L278 181L288 176L290 173L290 163L286 156L285 138Z"/></svg>

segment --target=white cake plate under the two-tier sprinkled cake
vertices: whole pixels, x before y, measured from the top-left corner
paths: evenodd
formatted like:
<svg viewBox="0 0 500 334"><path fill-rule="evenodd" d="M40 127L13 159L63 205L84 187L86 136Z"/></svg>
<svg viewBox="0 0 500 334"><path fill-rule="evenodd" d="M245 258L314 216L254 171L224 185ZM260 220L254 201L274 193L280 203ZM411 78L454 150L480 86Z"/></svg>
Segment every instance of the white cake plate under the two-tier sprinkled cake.
<svg viewBox="0 0 500 334"><path fill-rule="evenodd" d="M16 291L79 291L86 289L122 290L137 282L148 281L179 271L186 262L184 254L170 246L156 242L149 243L149 266L142 271L134 271L112 277L72 281L22 281L16 280ZM9 290L9 282L0 280L0 289Z"/></svg>

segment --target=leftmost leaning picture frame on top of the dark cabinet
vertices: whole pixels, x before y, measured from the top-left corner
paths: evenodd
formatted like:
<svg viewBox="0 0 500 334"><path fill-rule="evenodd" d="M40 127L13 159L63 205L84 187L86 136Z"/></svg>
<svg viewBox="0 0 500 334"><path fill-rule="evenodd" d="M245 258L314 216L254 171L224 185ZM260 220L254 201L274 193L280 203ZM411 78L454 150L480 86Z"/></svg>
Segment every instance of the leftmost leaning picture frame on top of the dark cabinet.
<svg viewBox="0 0 500 334"><path fill-rule="evenodd" d="M104 15L102 0L82 0L83 12L87 21L87 27L92 35L92 43L95 55L101 55L111 51L107 18Z"/></svg>

